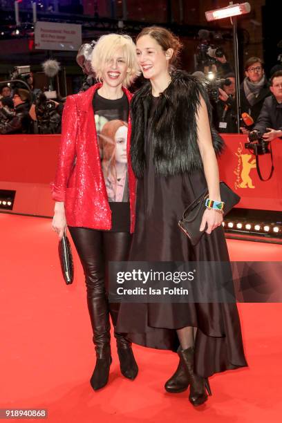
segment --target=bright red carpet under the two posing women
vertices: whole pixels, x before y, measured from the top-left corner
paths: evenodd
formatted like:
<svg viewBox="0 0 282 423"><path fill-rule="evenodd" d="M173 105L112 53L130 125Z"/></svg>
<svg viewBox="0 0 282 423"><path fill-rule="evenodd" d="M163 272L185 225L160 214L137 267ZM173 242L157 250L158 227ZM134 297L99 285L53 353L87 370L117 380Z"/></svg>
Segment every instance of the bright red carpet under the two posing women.
<svg viewBox="0 0 282 423"><path fill-rule="evenodd" d="M282 305L238 304L249 368L210 379L193 408L163 384L176 355L134 346L140 373L120 375L113 344L108 386L88 383L95 364L82 269L64 285L50 220L0 214L0 408L48 408L48 422L281 422ZM228 241L233 260L281 261L282 246ZM25 421L25 420L21 420ZM26 420L30 421L30 420Z"/></svg>

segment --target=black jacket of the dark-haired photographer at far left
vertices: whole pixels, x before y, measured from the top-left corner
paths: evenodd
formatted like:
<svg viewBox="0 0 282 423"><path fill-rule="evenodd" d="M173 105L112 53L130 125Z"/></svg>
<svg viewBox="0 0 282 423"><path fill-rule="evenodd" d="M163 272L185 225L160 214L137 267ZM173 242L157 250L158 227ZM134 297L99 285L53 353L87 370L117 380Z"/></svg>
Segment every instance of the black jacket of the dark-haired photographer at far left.
<svg viewBox="0 0 282 423"><path fill-rule="evenodd" d="M15 107L15 116L7 122L0 123L0 133L29 133L31 119L29 115L30 104L28 102Z"/></svg>

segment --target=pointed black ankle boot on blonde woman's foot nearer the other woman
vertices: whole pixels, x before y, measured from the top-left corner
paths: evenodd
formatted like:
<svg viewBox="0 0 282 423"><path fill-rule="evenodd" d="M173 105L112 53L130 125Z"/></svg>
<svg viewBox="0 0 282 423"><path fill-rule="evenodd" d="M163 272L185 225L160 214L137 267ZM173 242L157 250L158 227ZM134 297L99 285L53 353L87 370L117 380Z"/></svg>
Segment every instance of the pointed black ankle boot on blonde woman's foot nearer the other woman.
<svg viewBox="0 0 282 423"><path fill-rule="evenodd" d="M122 337L122 335L115 333L117 339L118 358L120 359L120 371L127 379L135 379L138 375L138 365L135 361L131 342Z"/></svg>

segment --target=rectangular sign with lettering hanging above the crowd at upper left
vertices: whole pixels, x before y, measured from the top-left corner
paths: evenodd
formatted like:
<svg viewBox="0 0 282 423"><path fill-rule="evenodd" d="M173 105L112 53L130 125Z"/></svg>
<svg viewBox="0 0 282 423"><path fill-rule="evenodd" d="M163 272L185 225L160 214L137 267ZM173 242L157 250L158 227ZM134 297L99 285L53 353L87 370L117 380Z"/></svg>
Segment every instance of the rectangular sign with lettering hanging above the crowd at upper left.
<svg viewBox="0 0 282 423"><path fill-rule="evenodd" d="M37 21L35 48L40 50L78 50L82 45L82 26L73 23Z"/></svg>

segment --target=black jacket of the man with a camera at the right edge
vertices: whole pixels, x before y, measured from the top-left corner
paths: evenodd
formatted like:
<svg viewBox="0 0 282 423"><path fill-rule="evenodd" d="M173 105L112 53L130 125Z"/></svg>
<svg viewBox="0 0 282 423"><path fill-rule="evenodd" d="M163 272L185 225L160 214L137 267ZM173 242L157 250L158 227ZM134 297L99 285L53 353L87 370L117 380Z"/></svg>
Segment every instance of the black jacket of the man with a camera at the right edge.
<svg viewBox="0 0 282 423"><path fill-rule="evenodd" d="M265 98L259 118L254 129L262 133L268 132L267 128L282 130L282 103L277 102L274 95Z"/></svg>

